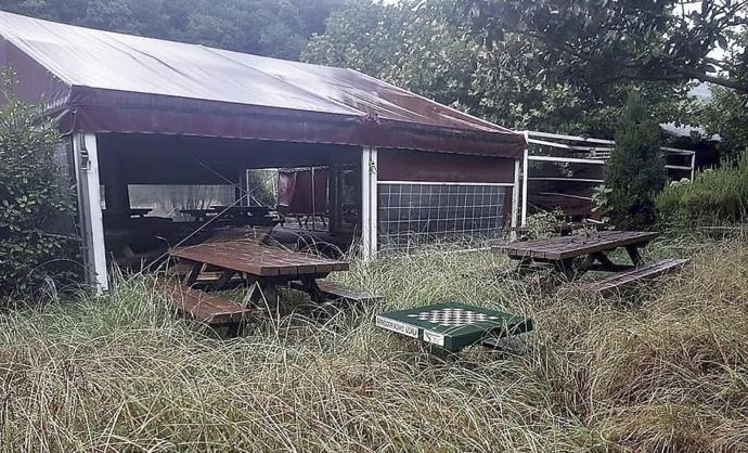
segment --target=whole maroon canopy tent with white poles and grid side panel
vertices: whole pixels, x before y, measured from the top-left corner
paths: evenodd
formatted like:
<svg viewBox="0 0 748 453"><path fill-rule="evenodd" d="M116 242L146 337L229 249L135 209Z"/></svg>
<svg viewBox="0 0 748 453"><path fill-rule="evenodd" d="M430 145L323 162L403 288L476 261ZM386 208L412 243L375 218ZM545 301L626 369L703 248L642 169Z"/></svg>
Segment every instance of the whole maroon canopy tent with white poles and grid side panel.
<svg viewBox="0 0 748 453"><path fill-rule="evenodd" d="M325 168L319 187L296 181L295 197L328 211L328 232L360 238L365 258L379 243L516 224L524 134L356 70L0 12L5 66L20 96L65 134L62 172L75 182L86 277L100 290L107 260L140 260L158 251L155 240L181 244L209 228L181 208L186 196L172 204L179 218L133 213L131 187L219 184L234 206L248 171Z"/></svg>

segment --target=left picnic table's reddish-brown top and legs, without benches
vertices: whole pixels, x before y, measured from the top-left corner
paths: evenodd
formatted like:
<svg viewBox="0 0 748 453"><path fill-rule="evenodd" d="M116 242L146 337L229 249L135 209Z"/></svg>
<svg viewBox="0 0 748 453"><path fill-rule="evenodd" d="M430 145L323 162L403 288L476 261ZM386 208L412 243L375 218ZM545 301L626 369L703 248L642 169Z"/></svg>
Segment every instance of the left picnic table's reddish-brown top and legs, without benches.
<svg viewBox="0 0 748 453"><path fill-rule="evenodd" d="M236 274L242 275L248 285L245 302L259 302L262 297L266 300L278 300L276 287L287 286L291 282L300 282L298 287L301 290L309 294L312 300L323 302L325 295L317 280L324 279L331 272L349 269L345 261L269 247L249 241L177 247L171 248L169 254L192 264L182 282L188 287L192 286L199 274L209 267L220 271L220 276L212 284L216 289L224 287Z"/></svg>

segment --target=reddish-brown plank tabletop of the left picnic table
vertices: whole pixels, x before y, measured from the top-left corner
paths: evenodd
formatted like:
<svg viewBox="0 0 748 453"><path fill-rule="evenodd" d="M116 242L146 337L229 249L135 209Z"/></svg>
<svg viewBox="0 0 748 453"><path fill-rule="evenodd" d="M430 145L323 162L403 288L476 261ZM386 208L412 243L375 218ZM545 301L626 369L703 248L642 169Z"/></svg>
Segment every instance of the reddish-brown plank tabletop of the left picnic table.
<svg viewBox="0 0 748 453"><path fill-rule="evenodd" d="M178 247L170 249L169 254L173 257L257 276L320 275L349 269L345 261L242 241Z"/></svg>

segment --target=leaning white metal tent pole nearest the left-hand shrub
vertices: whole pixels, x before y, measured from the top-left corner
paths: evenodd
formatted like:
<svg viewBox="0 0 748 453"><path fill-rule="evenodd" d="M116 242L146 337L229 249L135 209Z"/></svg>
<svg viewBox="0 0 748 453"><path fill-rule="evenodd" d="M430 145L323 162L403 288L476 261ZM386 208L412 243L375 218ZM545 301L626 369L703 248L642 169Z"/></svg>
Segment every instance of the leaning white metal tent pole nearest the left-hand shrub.
<svg viewBox="0 0 748 453"><path fill-rule="evenodd" d="M87 280L96 294L109 288L104 245L104 219L101 210L101 182L95 133L79 133L73 139L78 215L82 233L83 263Z"/></svg>

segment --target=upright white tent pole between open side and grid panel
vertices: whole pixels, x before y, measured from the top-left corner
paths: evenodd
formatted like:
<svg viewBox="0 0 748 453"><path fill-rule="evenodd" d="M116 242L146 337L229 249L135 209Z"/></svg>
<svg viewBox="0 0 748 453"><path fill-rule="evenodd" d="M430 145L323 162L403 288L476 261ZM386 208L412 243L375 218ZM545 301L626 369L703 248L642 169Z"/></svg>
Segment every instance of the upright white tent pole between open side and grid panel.
<svg viewBox="0 0 748 453"><path fill-rule="evenodd" d="M361 238L363 259L370 260L377 248L377 152L364 146L361 153Z"/></svg>

